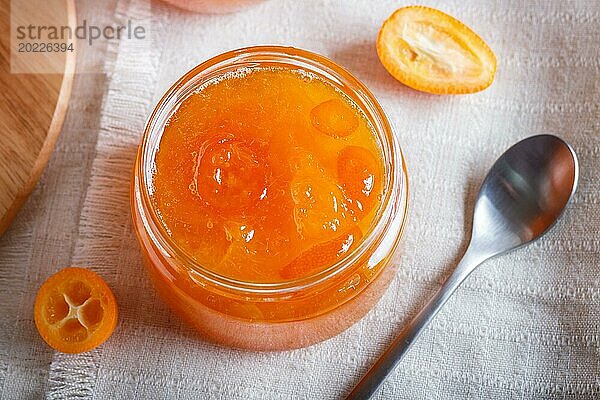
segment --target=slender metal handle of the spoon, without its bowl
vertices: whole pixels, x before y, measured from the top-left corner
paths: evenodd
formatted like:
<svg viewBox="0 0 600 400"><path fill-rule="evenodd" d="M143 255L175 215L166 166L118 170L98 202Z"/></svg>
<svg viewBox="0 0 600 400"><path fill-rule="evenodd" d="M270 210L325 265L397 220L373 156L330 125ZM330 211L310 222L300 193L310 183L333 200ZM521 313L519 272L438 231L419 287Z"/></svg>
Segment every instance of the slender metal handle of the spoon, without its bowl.
<svg viewBox="0 0 600 400"><path fill-rule="evenodd" d="M419 311L400 334L394 339L385 353L363 376L356 387L350 392L346 400L366 400L373 396L385 378L394 370L402 360L408 349L419 337L424 328L429 324L437 312L442 308L452 293L460 286L467 276L484 260L476 257L467 249L456 269L435 293L429 302Z"/></svg>

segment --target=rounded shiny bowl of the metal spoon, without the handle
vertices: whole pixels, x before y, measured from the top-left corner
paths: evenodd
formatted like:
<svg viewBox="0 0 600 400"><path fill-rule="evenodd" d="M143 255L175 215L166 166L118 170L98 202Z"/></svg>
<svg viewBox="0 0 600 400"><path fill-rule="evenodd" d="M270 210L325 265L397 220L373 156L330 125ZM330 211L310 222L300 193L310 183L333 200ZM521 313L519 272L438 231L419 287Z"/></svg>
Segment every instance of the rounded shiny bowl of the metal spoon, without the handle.
<svg viewBox="0 0 600 400"><path fill-rule="evenodd" d="M577 155L564 140L532 136L492 166L475 202L471 245L489 257L543 235L575 194Z"/></svg>

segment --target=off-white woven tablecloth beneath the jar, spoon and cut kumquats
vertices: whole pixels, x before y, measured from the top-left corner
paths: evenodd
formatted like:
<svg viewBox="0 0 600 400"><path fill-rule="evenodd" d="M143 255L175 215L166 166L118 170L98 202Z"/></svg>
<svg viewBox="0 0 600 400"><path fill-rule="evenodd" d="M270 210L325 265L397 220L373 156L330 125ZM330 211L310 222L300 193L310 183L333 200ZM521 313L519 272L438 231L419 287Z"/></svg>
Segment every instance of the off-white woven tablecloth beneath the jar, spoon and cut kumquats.
<svg viewBox="0 0 600 400"><path fill-rule="evenodd" d="M379 398L600 397L600 3L431 1L498 58L488 90L456 97L412 91L380 65L374 40L396 1L272 0L227 16L78 3L108 20L150 17L153 45L117 44L108 77L76 78L57 150L0 238L1 398L339 398L453 268L488 167L538 133L580 157L572 207L540 242L477 270ZM158 97L192 66L253 44L303 47L362 79L397 129L411 185L402 265L380 304L338 337L284 353L198 340L151 288L128 214L135 147ZM70 264L105 277L121 313L107 343L76 356L49 350L32 318L39 285Z"/></svg>

